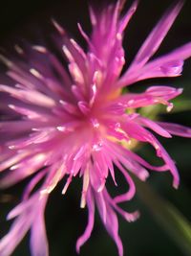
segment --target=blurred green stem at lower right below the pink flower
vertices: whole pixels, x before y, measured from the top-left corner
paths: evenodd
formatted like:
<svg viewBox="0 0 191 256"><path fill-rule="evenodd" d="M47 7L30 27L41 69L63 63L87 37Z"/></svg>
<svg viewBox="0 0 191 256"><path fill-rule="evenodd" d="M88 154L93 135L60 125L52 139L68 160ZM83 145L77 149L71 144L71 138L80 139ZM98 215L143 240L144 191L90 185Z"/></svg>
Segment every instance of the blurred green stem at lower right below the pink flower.
<svg viewBox="0 0 191 256"><path fill-rule="evenodd" d="M148 207L153 218L180 246L184 255L191 255L191 223L170 202L161 198L148 183L134 177L138 198Z"/></svg>

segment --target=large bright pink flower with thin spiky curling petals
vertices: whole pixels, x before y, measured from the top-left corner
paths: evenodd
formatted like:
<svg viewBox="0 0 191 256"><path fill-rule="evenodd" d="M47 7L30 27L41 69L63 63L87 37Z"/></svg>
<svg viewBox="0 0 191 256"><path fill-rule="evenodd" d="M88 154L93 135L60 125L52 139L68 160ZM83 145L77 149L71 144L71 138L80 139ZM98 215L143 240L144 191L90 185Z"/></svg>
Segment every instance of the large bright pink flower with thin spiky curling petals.
<svg viewBox="0 0 191 256"><path fill-rule="evenodd" d="M50 193L65 177L62 194L67 192L76 175L81 176L80 205L82 208L87 205L89 211L85 232L76 243L77 252L91 236L97 207L120 256L123 247L118 236L117 213L126 221L138 219L138 212L128 213L119 206L136 193L129 172L146 180L148 170L170 171L173 186L179 186L175 163L151 130L171 138L172 134L191 137L191 129L154 122L138 114L137 108L161 104L170 111L173 105L169 101L180 95L182 89L158 85L142 93L126 94L121 94L121 89L150 78L180 76L183 60L191 56L191 42L165 56L151 58L182 4L179 2L163 15L127 71L120 75L125 63L123 32L138 6L135 1L129 11L120 16L122 2L117 1L101 12L90 9L91 37L78 25L88 44L87 52L53 20L59 35L55 42L68 58L69 72L41 45L23 48L16 45L19 58L0 56L9 68L7 75L11 79L10 85L0 85L1 108L9 115L8 121L0 123L0 171L5 171L0 187L10 187L32 175L22 201L8 215L8 220L14 221L0 242L1 256L11 255L29 229L32 255L48 255L44 209ZM151 144L163 160L163 166L152 166L130 150L132 140ZM111 175L117 185L116 172L124 175L129 189L112 198L105 183ZM42 185L35 190L40 181Z"/></svg>

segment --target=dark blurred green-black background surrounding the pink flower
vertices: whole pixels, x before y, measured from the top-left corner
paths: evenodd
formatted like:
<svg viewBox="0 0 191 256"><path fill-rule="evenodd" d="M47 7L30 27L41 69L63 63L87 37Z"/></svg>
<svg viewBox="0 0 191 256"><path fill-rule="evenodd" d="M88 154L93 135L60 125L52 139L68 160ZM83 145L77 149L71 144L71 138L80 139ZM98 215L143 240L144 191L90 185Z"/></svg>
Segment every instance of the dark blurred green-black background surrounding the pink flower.
<svg viewBox="0 0 191 256"><path fill-rule="evenodd" d="M102 1L96 3L100 5ZM125 9L131 3L132 1L127 1ZM159 20L159 17L173 3L172 0L140 1L138 12L136 12L126 30L124 38L127 66L137 53L141 42ZM53 32L50 20L51 17L54 17L85 47L85 43L77 31L76 23L80 22L84 30L90 33L89 4L90 2L87 0L1 1L0 45L11 49L13 44L22 38L30 40L34 44L46 40ZM156 56L167 53L191 39L190 13L191 1L187 0ZM1 68L2 71L3 68ZM175 108L172 112L165 114L164 108L161 108L162 113L159 115L159 119L191 126L191 60L185 62L181 77L170 80L138 82L131 90L142 91L153 84L167 84L184 88L183 95L175 101ZM141 212L140 219L134 223L128 223L119 217L119 234L124 244L125 256L191 255L191 249L189 248L191 244L188 245L189 237L191 237L188 227L189 222L186 222L187 226L183 225L185 220L189 221L191 217L191 139L174 137L170 140L161 139L160 141L177 162L180 170L180 189L176 191L172 188L172 177L168 173L156 174L153 172L147 181L146 187L144 184L143 187L141 184L138 185L137 197L131 202L125 203L124 208L127 210L139 209ZM138 146L136 150L142 156L147 157L147 160L155 163L154 151L151 151L151 148ZM5 221L6 215L19 201L25 183L22 182L7 191L1 192L1 237L6 234L10 225L10 222ZM120 176L118 176L118 183L121 183L121 191L126 190ZM74 180L64 197L61 196L63 184L60 182L53 191L46 210L50 256L75 256L75 241L83 232L87 221L86 210L81 210L79 207L80 179L76 178ZM113 193L111 188L113 185L110 184L110 180L107 185ZM186 234L185 238L182 234ZM30 255L29 235L12 255ZM80 255L117 255L116 245L108 236L97 214L92 238L82 247Z"/></svg>

